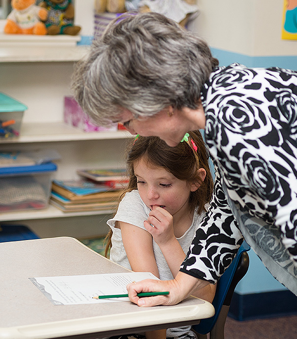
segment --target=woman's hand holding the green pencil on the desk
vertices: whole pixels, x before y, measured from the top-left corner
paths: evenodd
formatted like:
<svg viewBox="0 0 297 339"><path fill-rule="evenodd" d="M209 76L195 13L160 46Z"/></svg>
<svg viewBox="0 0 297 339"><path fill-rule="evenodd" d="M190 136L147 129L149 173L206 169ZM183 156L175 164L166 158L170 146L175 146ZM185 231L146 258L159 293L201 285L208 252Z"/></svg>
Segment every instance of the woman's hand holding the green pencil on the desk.
<svg viewBox="0 0 297 339"><path fill-rule="evenodd" d="M176 305L187 298L192 291L201 289L209 283L195 278L189 274L178 272L173 280L151 280L146 279L137 283L127 285L129 299L141 307L156 305ZM168 295L156 295L151 297L137 296L140 292L169 291Z"/></svg>

